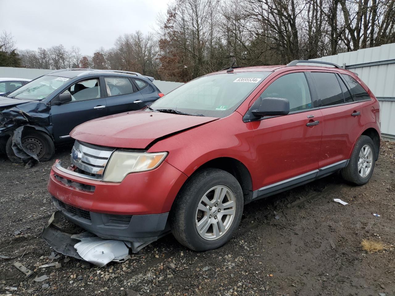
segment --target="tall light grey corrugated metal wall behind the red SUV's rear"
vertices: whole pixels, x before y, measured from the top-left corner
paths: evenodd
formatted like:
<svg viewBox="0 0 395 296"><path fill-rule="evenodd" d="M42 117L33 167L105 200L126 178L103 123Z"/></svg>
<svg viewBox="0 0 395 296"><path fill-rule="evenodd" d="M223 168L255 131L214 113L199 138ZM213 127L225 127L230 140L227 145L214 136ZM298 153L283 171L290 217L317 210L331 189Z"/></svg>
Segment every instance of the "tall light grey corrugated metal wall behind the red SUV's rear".
<svg viewBox="0 0 395 296"><path fill-rule="evenodd" d="M358 73L380 101L381 132L395 139L395 43L314 60L331 62Z"/></svg>

